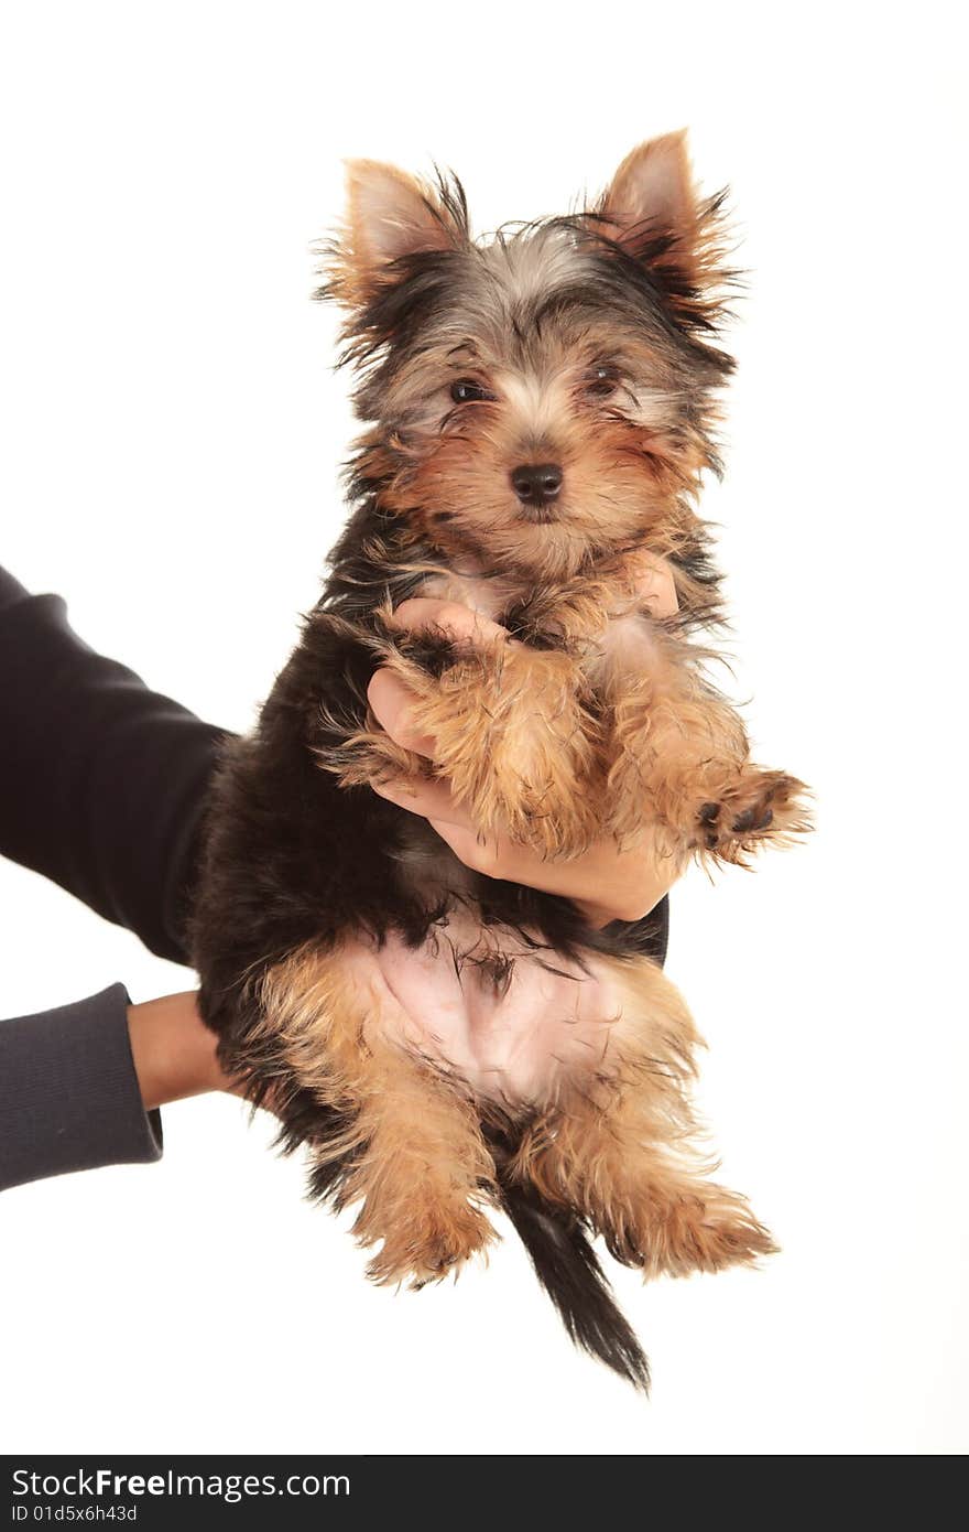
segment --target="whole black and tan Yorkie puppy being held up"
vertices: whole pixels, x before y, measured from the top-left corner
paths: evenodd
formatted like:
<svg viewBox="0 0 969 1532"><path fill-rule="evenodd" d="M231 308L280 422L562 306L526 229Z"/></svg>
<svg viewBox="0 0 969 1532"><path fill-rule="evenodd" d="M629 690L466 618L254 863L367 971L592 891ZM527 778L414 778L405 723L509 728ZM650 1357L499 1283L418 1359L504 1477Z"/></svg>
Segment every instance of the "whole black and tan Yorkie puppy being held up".
<svg viewBox="0 0 969 1532"><path fill-rule="evenodd" d="M542 858L648 829L670 881L808 829L807 789L750 760L697 639L723 622L693 510L732 369L721 208L681 133L635 149L594 207L488 241L456 179L351 165L318 296L360 374L355 510L227 752L194 910L222 1065L285 1149L308 1146L314 1196L360 1206L369 1275L436 1281L502 1209L573 1339L640 1386L589 1238L644 1276L773 1249L704 1174L666 902L597 930L468 869L370 784L445 778L482 836ZM675 617L640 594L657 559ZM401 631L415 594L504 631ZM378 666L413 692L433 764L369 711Z"/></svg>

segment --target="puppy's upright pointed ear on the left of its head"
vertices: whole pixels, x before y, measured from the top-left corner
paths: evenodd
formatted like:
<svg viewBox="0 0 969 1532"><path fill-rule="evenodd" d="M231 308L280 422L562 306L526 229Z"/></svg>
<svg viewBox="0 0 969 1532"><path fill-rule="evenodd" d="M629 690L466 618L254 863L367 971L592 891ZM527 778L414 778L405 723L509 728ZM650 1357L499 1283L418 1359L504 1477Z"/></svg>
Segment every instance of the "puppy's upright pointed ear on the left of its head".
<svg viewBox="0 0 969 1532"><path fill-rule="evenodd" d="M409 256L455 250L467 237L459 181L442 176L432 187L396 165L351 159L343 233L329 250L326 294L358 308L400 282Z"/></svg>

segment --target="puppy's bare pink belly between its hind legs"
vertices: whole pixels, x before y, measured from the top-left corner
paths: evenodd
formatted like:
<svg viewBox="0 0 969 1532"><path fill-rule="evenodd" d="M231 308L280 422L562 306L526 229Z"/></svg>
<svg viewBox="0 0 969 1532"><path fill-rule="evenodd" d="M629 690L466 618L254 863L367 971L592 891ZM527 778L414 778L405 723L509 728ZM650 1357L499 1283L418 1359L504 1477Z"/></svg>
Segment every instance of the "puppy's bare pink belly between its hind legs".
<svg viewBox="0 0 969 1532"><path fill-rule="evenodd" d="M364 1036L377 1030L508 1105L548 1103L565 1079L602 1068L623 1010L606 964L589 958L583 970L468 913L449 915L418 948L354 939L341 962L369 991Z"/></svg>

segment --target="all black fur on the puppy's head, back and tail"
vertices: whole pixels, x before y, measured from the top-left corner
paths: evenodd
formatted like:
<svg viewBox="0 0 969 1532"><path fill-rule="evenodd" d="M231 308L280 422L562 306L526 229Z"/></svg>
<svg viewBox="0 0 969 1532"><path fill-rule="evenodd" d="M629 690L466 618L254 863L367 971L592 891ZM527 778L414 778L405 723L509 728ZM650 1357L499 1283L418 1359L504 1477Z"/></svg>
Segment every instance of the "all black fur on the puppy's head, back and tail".
<svg viewBox="0 0 969 1532"><path fill-rule="evenodd" d="M366 726L366 691L380 663L383 637L380 608L398 605L419 588L423 576L415 565L442 561L429 539L415 536L400 507L393 515L384 509L384 470L380 455L370 450L380 443L384 461L395 463L395 443L406 437L407 421L383 418L386 388L403 358L421 345L426 325L447 308L462 265L475 260L458 182L442 185L441 202L456 234L455 248L401 260L395 280L384 282L347 326L344 360L363 371L357 408L381 426L351 464L357 510L334 550L323 594L305 620L256 732L225 751L193 915L202 1014L219 1036L225 1069L245 1082L253 1103L269 1105L277 1114L285 1152L306 1143L335 1143L344 1137L347 1121L292 1080L282 1046L271 1030L260 1026L254 980L294 950L312 944L326 951L347 931L366 931L378 944L393 931L418 947L449 908L439 881L429 898L413 876L415 846L438 863L450 855L433 830L369 787L340 787L332 771L323 769L323 760L340 764L347 737ZM677 316L677 300L692 294L674 265L654 265L666 247L644 242L644 253L634 259L595 228L594 214L545 227L569 228L582 242L585 277L536 302L514 325L540 329L553 308L559 314L606 308L623 323L646 328L681 374L684 409L697 412L693 424L700 429L698 401L723 381L730 362L712 346L703 314L693 320ZM709 608L693 611L695 620L706 620L716 613L718 576L703 525L695 522L695 542L680 552L680 564L710 591ZM542 633L527 602L508 613L508 624L528 643L557 642L554 634ZM447 659L433 643L412 643L410 653L432 673ZM568 899L467 873L456 861L455 887L464 890L462 899L470 898L484 925L511 927L525 941L546 945L553 958L559 953L582 961L583 953L602 951L664 961L666 899L644 921L595 930ZM511 1138L501 1138L493 1126L488 1132L502 1207L569 1336L646 1388L646 1357L609 1296L588 1227L505 1174L514 1152L513 1129ZM347 1157L317 1167L311 1193L340 1207L352 1169Z"/></svg>

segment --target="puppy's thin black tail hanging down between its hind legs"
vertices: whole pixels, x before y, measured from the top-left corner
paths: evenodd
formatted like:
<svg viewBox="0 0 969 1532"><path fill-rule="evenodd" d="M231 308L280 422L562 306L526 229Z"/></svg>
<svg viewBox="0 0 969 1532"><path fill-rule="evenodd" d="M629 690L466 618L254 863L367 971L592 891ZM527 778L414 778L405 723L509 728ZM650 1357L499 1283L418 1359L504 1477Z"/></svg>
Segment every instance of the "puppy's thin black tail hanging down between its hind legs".
<svg viewBox="0 0 969 1532"><path fill-rule="evenodd" d="M649 1362L612 1298L583 1223L520 1183L502 1186L502 1206L576 1345L648 1394Z"/></svg>

